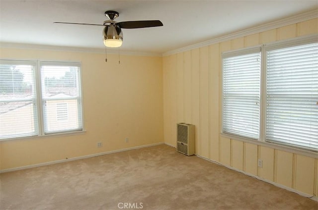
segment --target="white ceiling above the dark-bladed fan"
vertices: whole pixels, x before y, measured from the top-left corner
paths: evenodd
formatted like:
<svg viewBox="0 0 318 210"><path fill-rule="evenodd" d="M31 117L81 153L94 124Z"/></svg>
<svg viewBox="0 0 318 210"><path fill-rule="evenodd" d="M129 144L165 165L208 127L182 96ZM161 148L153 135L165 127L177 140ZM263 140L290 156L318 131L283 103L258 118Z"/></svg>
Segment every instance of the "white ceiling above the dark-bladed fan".
<svg viewBox="0 0 318 210"><path fill-rule="evenodd" d="M0 42L104 49L106 10L117 22L161 20L123 29L122 51L162 53L318 8L318 0L0 0Z"/></svg>

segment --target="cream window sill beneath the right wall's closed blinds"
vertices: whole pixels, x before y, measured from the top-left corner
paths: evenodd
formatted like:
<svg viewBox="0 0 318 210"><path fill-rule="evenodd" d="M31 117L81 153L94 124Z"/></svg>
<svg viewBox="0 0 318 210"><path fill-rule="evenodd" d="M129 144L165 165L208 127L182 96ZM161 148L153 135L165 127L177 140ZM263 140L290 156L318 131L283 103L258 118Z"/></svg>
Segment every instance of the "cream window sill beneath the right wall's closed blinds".
<svg viewBox="0 0 318 210"><path fill-rule="evenodd" d="M254 145L259 145L259 146L263 146L263 147L268 147L268 148L272 148L272 149L275 149L275 150L281 150L281 151L285 151L285 152L289 152L289 153L294 153L294 154L297 154L297 155L318 158L318 152L314 152L314 151L309 151L309 150L305 150L305 149L279 145L279 144L270 143L270 142L263 142L263 141L260 141L260 140L252 140L252 139L239 137L239 136L226 134L226 133L220 133L220 135L221 135L221 137L233 139L233 140L236 140L236 141L241 141L241 142L246 142L246 143L249 143L249 144L254 144Z"/></svg>

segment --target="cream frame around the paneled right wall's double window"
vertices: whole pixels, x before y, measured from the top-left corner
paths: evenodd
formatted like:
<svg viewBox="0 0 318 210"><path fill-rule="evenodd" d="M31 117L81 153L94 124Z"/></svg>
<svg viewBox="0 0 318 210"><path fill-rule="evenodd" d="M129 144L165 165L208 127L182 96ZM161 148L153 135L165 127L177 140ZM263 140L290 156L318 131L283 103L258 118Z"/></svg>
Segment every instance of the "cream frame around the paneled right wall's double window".
<svg viewBox="0 0 318 210"><path fill-rule="evenodd" d="M223 52L222 56L235 56L235 55L240 55L240 54L246 54L246 52L251 51L251 49L255 49L260 47L261 48L261 94L260 94L260 138L259 140L251 139L251 138L246 138L246 137L240 137L237 135L233 134L227 134L223 132L223 108L221 108L221 126L220 126L220 134L221 136L225 138L230 138L246 143L251 143L251 144L256 144L260 146L265 146L273 149L280 149L283 151L291 152L291 153L297 153L301 155L306 155L309 157L317 157L318 151L316 150L311 150L311 149L304 149L301 147L297 146L290 146L290 145L284 145L284 144L278 144L278 143L272 143L266 141L266 50L271 50L271 49L280 49L280 48L288 48L288 47L293 47L293 46L298 46L298 45L306 45L310 43L315 43L318 42L318 36L315 35L308 35L308 36L303 36L303 37L298 37L298 38L292 38L288 40L283 40L283 41L276 41L264 45L257 45L252 48L245 48L245 49L239 49L239 50L234 50L234 51L228 51L228 52ZM222 62L223 66L223 62ZM222 67L222 74L223 75L223 67ZM223 77L221 78L222 82L222 94L223 94ZM221 104L223 105L223 99Z"/></svg>

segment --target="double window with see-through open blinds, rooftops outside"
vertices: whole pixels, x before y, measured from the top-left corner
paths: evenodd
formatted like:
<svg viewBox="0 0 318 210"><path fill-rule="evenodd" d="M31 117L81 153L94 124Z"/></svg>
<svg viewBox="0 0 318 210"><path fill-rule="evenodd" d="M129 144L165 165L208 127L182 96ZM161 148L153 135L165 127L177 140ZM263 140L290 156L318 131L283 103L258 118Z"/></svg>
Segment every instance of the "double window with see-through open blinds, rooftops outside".
<svg viewBox="0 0 318 210"><path fill-rule="evenodd" d="M79 63L0 60L0 80L0 139L82 130Z"/></svg>

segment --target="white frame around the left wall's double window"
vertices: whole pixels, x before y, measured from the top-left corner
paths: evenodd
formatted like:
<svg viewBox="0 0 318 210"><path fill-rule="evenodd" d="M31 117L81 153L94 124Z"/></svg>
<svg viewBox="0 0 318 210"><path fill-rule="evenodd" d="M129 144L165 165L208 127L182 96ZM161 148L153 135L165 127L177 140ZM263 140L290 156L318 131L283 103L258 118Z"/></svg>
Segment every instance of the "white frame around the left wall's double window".
<svg viewBox="0 0 318 210"><path fill-rule="evenodd" d="M36 103L37 106L37 118L35 119L35 123L37 126L37 134L35 135L25 135L25 136L16 136L16 137L8 137L8 138L2 138L0 141L10 141L14 139L30 139L30 138L42 138L46 136L60 136L60 135L75 135L75 134L81 134L85 132L84 129L84 111L83 111L83 95L82 95L82 79L81 79L81 63L79 61L46 61L46 60L22 60L22 59L5 59L1 58L0 60L3 60L5 63L19 63L19 62L25 62L25 63L34 63L35 67L35 72L34 72L34 85L36 89L36 96L34 103ZM80 116L81 116L81 129L78 130L63 130L63 131L58 131L54 133L45 133L44 131L44 110L43 110L43 105L44 102L42 102L42 91L41 91L41 64L52 64L52 65L63 65L65 64L66 66L77 66L79 67L79 97L78 100L80 102Z"/></svg>

